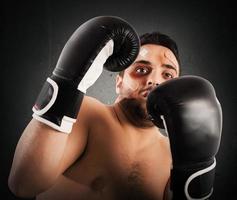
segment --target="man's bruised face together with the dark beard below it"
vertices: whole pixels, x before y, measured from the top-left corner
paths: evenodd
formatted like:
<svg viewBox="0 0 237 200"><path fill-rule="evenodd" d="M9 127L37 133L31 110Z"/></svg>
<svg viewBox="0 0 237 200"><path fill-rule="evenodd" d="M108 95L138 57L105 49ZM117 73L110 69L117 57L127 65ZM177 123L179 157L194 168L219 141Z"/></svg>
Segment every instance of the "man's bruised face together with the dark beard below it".
<svg viewBox="0 0 237 200"><path fill-rule="evenodd" d="M146 98L157 85L179 76L179 64L173 52L160 45L143 45L134 63L117 76L115 103L135 126L151 127Z"/></svg>

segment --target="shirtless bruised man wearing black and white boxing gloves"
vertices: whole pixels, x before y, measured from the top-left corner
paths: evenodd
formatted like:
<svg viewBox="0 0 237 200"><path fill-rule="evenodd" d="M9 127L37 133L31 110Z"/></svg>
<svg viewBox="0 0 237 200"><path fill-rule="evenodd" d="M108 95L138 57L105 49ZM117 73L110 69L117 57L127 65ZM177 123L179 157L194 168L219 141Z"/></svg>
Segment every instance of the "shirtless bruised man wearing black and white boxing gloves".
<svg viewBox="0 0 237 200"><path fill-rule="evenodd" d="M136 33L128 24L120 20L113 17L94 18L82 25L82 28L79 28L66 44L54 75L46 82L43 92L36 101L33 109L34 118L24 130L16 148L9 176L9 187L17 196L36 196L37 200L171 199L172 195L168 193L169 184L167 184L171 177L173 186L179 188L178 192L172 189L173 199L186 199L187 196L184 198L183 192L184 180L177 177L188 178L200 169L213 166L213 156L218 149L219 140L215 140L214 144L204 143L214 149L210 153L211 156L204 155L208 159L199 156L200 152L197 153L197 150L193 149L190 150L190 152L194 151L191 160L173 158L173 167L177 164L175 169L181 169L179 166L192 163L191 167L185 167L192 171L187 172L182 168L174 173L177 176L171 176L172 156L176 154L175 152L178 154L180 149L172 152L171 156L171 149L174 150L175 145L170 142L170 148L168 138L163 136L157 127L165 125L172 137L172 130L167 128L170 126L166 118L168 115L159 113L157 106L153 105L155 105L154 99L159 98L156 97L159 91L154 88L167 80L177 78L180 74L177 47L168 36L159 33L145 34L141 37L142 46L138 54ZM100 42L105 38L97 32L98 26L102 27L101 24L103 28L106 27L105 29L116 29L116 26L121 26L122 29L119 30L122 30L122 33L114 32L120 34L122 40L117 36L109 41L107 39L107 43L102 46L103 49L102 42L100 43L99 50L102 50L99 51L98 47L89 44L93 43L93 40ZM127 33L126 31L129 32L129 36L123 35ZM84 34L85 32L87 34ZM89 39L85 41L85 38ZM123 54L119 52L123 49L123 45L126 46L127 55L118 58L118 54ZM92 57L85 58L85 54L88 53L86 48L95 49L90 52L94 54ZM99 54L101 55L97 56ZM111 54L108 63L107 58ZM97 59L98 57L100 58ZM80 59L84 60L78 61ZM120 62L122 59L124 62ZM121 71L116 78L118 97L113 105L104 105L94 98L83 95L99 77L103 64L111 71ZM68 70L68 66L71 67L71 71ZM91 72L88 69L92 69ZM70 79L76 80L75 82L79 84L77 87L79 92L75 92L72 88L74 85L68 83ZM189 80L184 79L184 81L192 83L193 80L190 79L195 78L189 77ZM169 82L171 82L169 88L174 87L172 81ZM59 93L57 100L49 103L55 99L54 95L50 95L53 90L56 90L52 89L54 83L59 85ZM183 83L182 80L180 83ZM175 83L175 85L179 84ZM182 84L180 85L178 87L182 88ZM147 98L151 91L154 91L154 95L149 95L148 104ZM50 97L46 98L48 96ZM48 110L45 109L47 107ZM218 108L215 107L216 110ZM215 112L215 114L219 113ZM73 116L76 116L76 120L73 120ZM217 126L215 123L219 118L214 117L212 125ZM218 122L220 123L220 120ZM220 126L217 127L221 129ZM213 128L211 134L218 128ZM214 135L219 136L219 132ZM185 133L180 135L187 137ZM205 146L202 148L207 149ZM187 151L186 147L184 151ZM213 167L207 171L212 172L212 169ZM203 197L210 193L213 184L213 180L210 179L213 173L207 174L208 177L204 179L208 181L204 181L208 184L204 189L200 189L200 181L198 183L193 181L192 184L197 188L194 195Z"/></svg>

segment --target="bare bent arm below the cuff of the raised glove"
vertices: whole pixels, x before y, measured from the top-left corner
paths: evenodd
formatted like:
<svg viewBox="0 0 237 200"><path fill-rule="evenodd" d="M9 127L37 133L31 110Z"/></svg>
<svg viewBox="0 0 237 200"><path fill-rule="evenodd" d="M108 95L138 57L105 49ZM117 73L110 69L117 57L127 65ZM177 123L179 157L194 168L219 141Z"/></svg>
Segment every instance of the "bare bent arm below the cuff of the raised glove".
<svg viewBox="0 0 237 200"><path fill-rule="evenodd" d="M51 187L86 148L94 100L85 97L72 132L67 135L36 119L16 147L8 184L17 196L31 197Z"/></svg>

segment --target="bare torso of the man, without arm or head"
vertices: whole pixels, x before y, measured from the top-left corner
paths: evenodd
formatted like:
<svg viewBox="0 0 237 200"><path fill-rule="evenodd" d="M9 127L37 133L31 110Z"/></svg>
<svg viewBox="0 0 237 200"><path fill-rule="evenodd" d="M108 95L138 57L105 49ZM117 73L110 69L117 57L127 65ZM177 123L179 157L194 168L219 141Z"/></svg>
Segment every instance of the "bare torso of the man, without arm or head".
<svg viewBox="0 0 237 200"><path fill-rule="evenodd" d="M157 128L122 125L100 105L80 158L37 200L159 200L170 175L168 140Z"/></svg>

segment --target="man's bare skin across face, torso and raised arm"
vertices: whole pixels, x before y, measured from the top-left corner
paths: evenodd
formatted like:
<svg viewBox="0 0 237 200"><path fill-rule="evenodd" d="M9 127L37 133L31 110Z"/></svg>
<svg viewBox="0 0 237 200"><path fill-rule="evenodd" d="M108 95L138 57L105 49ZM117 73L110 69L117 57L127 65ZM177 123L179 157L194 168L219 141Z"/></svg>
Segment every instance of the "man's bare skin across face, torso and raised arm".
<svg viewBox="0 0 237 200"><path fill-rule="evenodd" d="M164 198L171 153L167 137L156 126L137 127L119 103L139 100L145 109L157 84L179 75L173 53L144 45L135 62L116 78L118 98L104 105L84 97L71 134L32 119L14 156L9 187L21 197L116 200ZM127 111L129 112L129 110Z"/></svg>

